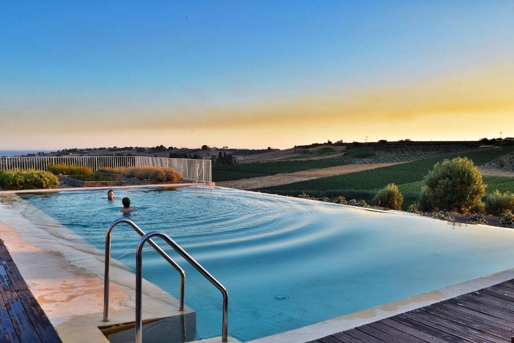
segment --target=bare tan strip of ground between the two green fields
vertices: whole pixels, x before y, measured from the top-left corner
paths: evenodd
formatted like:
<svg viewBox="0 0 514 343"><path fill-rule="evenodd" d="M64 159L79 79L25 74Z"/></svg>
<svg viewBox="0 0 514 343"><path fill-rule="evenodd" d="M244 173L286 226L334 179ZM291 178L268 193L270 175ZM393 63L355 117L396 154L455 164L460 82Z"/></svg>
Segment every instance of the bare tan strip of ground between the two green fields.
<svg viewBox="0 0 514 343"><path fill-rule="evenodd" d="M400 162L403 163L403 162ZM235 189L255 189L270 186L279 186L285 184L291 184L293 182L305 181L314 178L343 175L355 173L362 170L375 169L381 167L387 167L397 165L399 163L375 163L366 165L344 165L322 169L311 169L304 170L295 173L283 173L269 176L259 176L251 178L243 178L240 180L233 181L222 181L217 182L216 186L235 188Z"/></svg>

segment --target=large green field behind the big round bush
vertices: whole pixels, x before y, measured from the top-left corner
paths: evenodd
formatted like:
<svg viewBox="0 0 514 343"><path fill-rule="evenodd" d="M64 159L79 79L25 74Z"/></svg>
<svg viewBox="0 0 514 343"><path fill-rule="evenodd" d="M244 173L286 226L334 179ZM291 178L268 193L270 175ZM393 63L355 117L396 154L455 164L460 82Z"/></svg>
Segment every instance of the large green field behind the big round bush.
<svg viewBox="0 0 514 343"><path fill-rule="evenodd" d="M512 148L432 157L352 174L323 177L287 185L268 187L259 189L259 191L290 195L298 195L299 193L305 192L313 196L344 195L345 197L357 197L360 195L364 200L369 200L379 188L389 183L395 183L398 185L400 191L404 193L404 195L407 195L407 202L408 198L412 200L419 193L421 180L423 180L423 177L433 168L434 164L443 161L445 158L466 156L473 160L475 165L481 165L510 151L512 151ZM484 177L484 182L488 184L488 193L495 189L501 191L514 190L514 178L512 177L486 176Z"/></svg>

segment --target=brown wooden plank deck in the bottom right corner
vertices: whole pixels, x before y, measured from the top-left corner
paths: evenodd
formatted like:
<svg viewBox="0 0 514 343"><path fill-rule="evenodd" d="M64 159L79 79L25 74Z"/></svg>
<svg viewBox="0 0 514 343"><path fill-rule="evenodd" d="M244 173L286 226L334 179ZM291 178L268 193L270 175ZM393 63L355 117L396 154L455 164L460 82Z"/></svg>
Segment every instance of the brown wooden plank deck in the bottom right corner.
<svg viewBox="0 0 514 343"><path fill-rule="evenodd" d="M510 280L310 343L514 343L513 335L514 280Z"/></svg>

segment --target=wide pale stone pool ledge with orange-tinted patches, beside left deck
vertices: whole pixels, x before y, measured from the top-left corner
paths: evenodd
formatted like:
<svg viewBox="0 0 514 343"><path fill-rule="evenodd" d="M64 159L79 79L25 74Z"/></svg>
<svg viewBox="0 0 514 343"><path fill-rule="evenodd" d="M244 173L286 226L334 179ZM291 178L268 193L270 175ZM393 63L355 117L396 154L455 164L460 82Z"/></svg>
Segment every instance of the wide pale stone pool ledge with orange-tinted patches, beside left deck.
<svg viewBox="0 0 514 343"><path fill-rule="evenodd" d="M103 322L104 252L16 194L0 193L0 237L63 342L105 343L99 327L134 321L131 270L113 259L110 321ZM188 307L183 313L194 315ZM144 320L179 314L177 299L143 279ZM189 332L195 326L186 322Z"/></svg>

